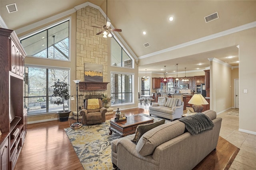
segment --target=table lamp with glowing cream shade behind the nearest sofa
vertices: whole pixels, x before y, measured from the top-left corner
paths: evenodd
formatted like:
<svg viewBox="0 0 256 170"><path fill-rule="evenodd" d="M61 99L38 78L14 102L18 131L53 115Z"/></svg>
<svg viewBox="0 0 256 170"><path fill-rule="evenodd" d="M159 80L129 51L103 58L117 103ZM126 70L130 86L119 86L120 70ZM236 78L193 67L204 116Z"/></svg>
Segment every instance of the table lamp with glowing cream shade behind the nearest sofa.
<svg viewBox="0 0 256 170"><path fill-rule="evenodd" d="M201 94L194 94L188 101L188 104L192 104L192 108L197 113L202 113L204 104L209 104Z"/></svg>

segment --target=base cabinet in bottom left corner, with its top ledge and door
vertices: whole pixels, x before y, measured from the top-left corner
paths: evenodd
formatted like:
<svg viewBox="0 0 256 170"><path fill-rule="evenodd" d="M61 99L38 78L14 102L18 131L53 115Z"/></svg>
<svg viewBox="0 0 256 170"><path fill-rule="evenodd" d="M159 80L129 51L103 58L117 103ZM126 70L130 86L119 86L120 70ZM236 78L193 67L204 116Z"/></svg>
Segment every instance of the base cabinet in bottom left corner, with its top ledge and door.
<svg viewBox="0 0 256 170"><path fill-rule="evenodd" d="M8 170L9 165L9 133L0 136L0 170Z"/></svg>

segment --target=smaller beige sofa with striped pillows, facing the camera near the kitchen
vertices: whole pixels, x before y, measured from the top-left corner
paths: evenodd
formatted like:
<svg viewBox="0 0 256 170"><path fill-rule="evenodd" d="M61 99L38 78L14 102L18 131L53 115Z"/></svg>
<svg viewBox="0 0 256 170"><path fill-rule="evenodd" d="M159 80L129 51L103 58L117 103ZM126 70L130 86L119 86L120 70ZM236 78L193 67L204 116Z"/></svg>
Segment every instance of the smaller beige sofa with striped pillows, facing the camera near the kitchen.
<svg viewBox="0 0 256 170"><path fill-rule="evenodd" d="M158 103L149 107L149 115L156 115L170 120L179 119L183 115L183 107L184 102L181 99L159 97Z"/></svg>

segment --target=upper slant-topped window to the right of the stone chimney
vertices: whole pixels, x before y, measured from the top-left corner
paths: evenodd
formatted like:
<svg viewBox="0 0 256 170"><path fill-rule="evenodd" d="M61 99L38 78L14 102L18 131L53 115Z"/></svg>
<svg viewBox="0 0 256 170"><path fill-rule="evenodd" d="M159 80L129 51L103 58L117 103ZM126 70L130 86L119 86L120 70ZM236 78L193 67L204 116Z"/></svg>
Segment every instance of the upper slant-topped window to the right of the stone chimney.
<svg viewBox="0 0 256 170"><path fill-rule="evenodd" d="M132 68L132 59L114 38L111 39L111 65Z"/></svg>

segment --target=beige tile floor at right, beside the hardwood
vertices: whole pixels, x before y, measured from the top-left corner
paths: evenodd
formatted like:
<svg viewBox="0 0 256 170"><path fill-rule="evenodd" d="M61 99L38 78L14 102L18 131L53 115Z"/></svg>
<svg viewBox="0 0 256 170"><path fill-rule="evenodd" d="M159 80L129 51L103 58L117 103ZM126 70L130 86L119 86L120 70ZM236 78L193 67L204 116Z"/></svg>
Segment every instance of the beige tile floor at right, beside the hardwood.
<svg viewBox="0 0 256 170"><path fill-rule="evenodd" d="M138 105L148 112L148 105ZM187 109L192 109L187 107ZM240 148L229 170L256 170L256 135L238 131L239 116L227 115L229 109L217 115L222 117L220 136ZM186 113L186 110L184 110Z"/></svg>

